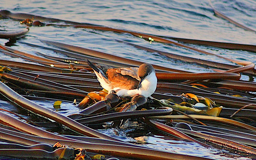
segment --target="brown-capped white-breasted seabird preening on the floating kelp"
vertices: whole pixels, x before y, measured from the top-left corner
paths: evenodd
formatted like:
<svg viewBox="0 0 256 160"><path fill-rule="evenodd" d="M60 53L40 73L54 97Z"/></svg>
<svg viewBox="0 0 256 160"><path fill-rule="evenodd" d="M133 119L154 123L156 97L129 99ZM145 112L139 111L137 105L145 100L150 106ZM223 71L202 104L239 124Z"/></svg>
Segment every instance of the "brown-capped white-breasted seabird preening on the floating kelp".
<svg viewBox="0 0 256 160"><path fill-rule="evenodd" d="M109 68L106 74L89 60L100 85L108 91L115 92L120 97L132 97L136 94L148 98L156 90L156 71L151 64L143 63L140 67Z"/></svg>

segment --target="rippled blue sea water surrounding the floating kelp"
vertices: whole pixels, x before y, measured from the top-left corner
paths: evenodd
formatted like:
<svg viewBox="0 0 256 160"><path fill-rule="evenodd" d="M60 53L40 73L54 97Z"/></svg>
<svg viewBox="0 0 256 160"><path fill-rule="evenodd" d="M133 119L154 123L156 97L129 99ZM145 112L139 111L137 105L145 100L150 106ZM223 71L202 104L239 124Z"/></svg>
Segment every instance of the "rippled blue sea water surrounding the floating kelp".
<svg viewBox="0 0 256 160"><path fill-rule="evenodd" d="M254 0L221 0L212 1L215 9L227 15L229 18L256 30L256 1ZM160 36L173 36L180 38L192 38L209 41L230 42L240 44L256 44L256 34L246 31L235 25L216 17L208 1L197 0L162 0L162 1L27 1L27 0L2 0L0 10L11 12L23 12L40 15L49 18L85 22L103 25L111 28L120 28L136 32ZM1 30L15 30L24 28L18 21L0 20ZM157 50L171 52L175 54L211 60L221 63L233 64L227 60L216 56L204 55L196 51L190 51L177 46L162 43L149 43L144 39L134 37L130 34L119 34L92 29L69 28L69 27L30 27L30 31L20 41L47 46L40 39L52 40L89 48L113 55L132 58L164 67L186 70L190 72L214 72L211 68L186 63L179 60L172 60L156 53L138 50L132 46L116 42L118 40L129 41L134 44L154 48ZM8 42L0 39L0 44ZM226 58L247 60L256 63L256 55L247 51L234 51L220 49L216 47L192 45L198 49L215 53ZM28 47L24 44L16 43L14 49L35 54L34 51L48 54L51 56L64 57L51 51L39 48ZM23 61L20 58L12 58L0 53L0 60ZM253 77L254 78L254 77ZM242 76L243 80L248 80L248 76ZM255 80L253 80L255 81ZM35 101L47 108L52 108L54 101ZM26 117L26 111L16 107L1 97L0 107L20 112ZM60 112L65 114L77 111L78 108L65 102L61 106ZM28 117L28 116L27 116ZM134 124L132 126L141 125ZM130 129L132 131L132 129ZM116 136L125 141L138 142L152 148L159 148L166 151L193 156L210 157L216 159L230 159L214 150L204 148L197 143L177 141L165 135L150 134L134 135L128 134L127 130L116 131L115 129L100 130L100 132ZM237 157L236 159L247 159Z"/></svg>

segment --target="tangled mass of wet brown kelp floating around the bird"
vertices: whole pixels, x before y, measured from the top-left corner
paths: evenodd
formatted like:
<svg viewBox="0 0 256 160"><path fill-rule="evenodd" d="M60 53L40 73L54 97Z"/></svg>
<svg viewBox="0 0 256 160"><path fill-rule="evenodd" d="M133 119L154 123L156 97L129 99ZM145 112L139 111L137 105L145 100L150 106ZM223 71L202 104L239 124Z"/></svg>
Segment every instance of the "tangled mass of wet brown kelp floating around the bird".
<svg viewBox="0 0 256 160"><path fill-rule="evenodd" d="M219 13L216 10L214 12ZM22 25L25 24L29 27L54 25L129 33L150 43L173 44L202 54L214 55L168 40L172 37L160 37L24 13L0 11L0 14L3 18L20 20ZM56 22L64 22L66 25L56 24ZM10 35L15 34L11 33ZM17 33L17 35L19 34ZM191 44L217 45L229 49L246 50L247 48L247 50L255 52L253 45L223 44L179 38L176 40ZM252 116L252 113L255 112L256 100L254 99L255 94L250 93L255 92L256 87L253 82L239 80L241 74L255 76L255 65L252 62L214 55L236 63L236 65L229 65L175 55L116 40L116 43L132 45L147 52L157 52L172 59L197 63L217 71L216 73L189 73L154 65L158 84L152 97L146 99L136 95L132 98L122 99L113 93L107 95L107 92L100 87L95 75L90 72L92 69L88 67L86 60L89 59L103 69L136 67L142 62L55 41L41 39L41 42L49 47L20 43L61 53L68 58L61 59L39 52L36 53L38 56L35 56L26 51L17 51L12 47L0 45L1 53L36 63L0 60L0 65L2 65L0 92L15 105L29 110L31 114L35 113L51 119L81 136L65 136L47 132L39 129L35 124L25 123L0 111L1 140L8 142L0 145L1 156L50 159L100 159L99 157L108 159L110 156L114 156L116 159L208 159L147 148L124 142L92 129L93 125L102 126L109 122L111 122L111 127L119 129L125 125L128 119L134 119L145 126L150 126L150 130L157 130L178 140L196 142L202 147L214 149L216 153L228 154L226 150L230 150L231 154L256 157L254 140L256 128L253 124L255 117ZM52 46L61 50L50 48ZM20 94L24 94L24 96ZM72 100L70 103L76 105L80 110L63 115L25 97L31 100L33 98ZM57 107L61 108L61 102ZM242 110L240 111L239 108ZM236 113L233 114L234 112ZM13 131L14 129L16 130ZM239 138L236 138L237 136ZM17 151L21 154L15 154ZM96 156L96 154L101 155Z"/></svg>

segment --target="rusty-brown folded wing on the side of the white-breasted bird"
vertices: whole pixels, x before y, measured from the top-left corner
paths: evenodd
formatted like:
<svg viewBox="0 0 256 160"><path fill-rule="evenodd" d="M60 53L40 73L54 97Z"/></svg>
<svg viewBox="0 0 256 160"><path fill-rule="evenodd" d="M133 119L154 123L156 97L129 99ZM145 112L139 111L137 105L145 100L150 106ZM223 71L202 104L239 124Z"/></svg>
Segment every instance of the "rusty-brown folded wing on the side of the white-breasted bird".
<svg viewBox="0 0 256 160"><path fill-rule="evenodd" d="M117 73L116 69L117 68L111 68L106 72L106 76L111 85L127 90L136 89L138 87L139 81L137 79Z"/></svg>

